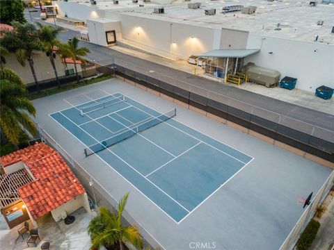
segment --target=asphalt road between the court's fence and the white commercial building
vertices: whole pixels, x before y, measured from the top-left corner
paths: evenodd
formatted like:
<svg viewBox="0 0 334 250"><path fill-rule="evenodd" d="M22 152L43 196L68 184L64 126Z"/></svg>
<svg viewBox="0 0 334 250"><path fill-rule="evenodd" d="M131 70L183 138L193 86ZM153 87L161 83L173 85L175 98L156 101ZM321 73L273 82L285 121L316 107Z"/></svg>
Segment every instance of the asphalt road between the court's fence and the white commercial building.
<svg viewBox="0 0 334 250"><path fill-rule="evenodd" d="M36 16L39 16L38 12L34 12L33 17ZM27 16L27 19L29 19L29 16ZM69 38L73 38L77 34L77 31L67 30L61 32L61 34L59 35L59 39L65 42ZM120 53L119 51L108 49L107 47L102 47L100 45L92 44L90 42L80 41L80 46L85 46L90 49L90 53L87 56L87 58L89 58L90 60L95 60L96 62L103 62L108 60L112 61L113 58L118 58L120 60L133 63L134 65L139 65L154 70L154 72L159 72L172 78L177 78L180 81L196 85L200 88L205 88L207 90L211 90L212 92L223 94L226 97L231 97L233 99L243 101L244 103L248 103L250 106L257 106L272 111L274 113L284 115L292 119L297 119L307 124L312 124L314 126L325 128L328 131L334 132L333 115L322 113L317 110L312 110L310 108L297 106L295 104L280 101L278 99L273 99L271 97L266 97L262 94L256 94L253 92L248 92L247 90L241 90L228 85L222 85L216 83L215 81L210 81L206 78L202 78L200 76L195 76L193 74L182 72L177 69L166 67L164 65L152 63L148 60L136 58L134 56ZM334 133L328 133L328 140L330 142L334 142Z"/></svg>

